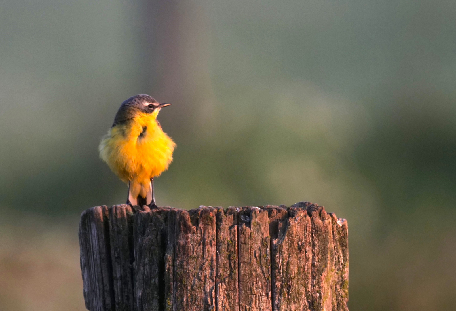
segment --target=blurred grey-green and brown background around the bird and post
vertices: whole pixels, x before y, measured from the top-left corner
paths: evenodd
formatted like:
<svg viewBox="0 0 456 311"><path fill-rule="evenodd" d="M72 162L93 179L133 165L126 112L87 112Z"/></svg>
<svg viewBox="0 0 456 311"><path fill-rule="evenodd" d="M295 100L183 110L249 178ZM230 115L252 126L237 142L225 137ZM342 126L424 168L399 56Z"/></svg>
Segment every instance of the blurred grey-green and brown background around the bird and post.
<svg viewBox="0 0 456 311"><path fill-rule="evenodd" d="M159 205L311 201L347 218L351 311L456 303L456 2L0 5L0 309L85 310L79 214L120 103L171 102Z"/></svg>

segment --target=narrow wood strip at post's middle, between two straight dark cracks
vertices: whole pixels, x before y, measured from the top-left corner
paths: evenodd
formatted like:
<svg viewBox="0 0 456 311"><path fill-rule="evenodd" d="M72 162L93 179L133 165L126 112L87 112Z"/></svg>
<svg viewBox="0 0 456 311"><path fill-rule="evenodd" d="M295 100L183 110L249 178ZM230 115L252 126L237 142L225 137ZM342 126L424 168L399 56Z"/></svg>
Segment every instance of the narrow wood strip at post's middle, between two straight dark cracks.
<svg viewBox="0 0 456 311"><path fill-rule="evenodd" d="M238 211L235 207L217 211L216 311L239 310Z"/></svg>

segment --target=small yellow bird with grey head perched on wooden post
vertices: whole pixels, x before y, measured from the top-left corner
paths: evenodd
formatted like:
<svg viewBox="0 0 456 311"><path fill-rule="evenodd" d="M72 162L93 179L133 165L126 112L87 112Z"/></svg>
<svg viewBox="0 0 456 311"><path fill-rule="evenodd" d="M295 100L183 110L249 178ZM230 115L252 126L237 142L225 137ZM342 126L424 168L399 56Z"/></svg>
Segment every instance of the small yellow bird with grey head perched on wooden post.
<svg viewBox="0 0 456 311"><path fill-rule="evenodd" d="M125 100L98 146L100 158L128 182L127 204L155 205L154 177L168 169L176 144L161 129L158 103L140 94Z"/></svg>

